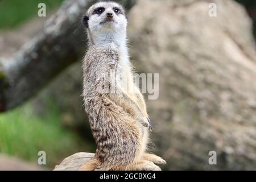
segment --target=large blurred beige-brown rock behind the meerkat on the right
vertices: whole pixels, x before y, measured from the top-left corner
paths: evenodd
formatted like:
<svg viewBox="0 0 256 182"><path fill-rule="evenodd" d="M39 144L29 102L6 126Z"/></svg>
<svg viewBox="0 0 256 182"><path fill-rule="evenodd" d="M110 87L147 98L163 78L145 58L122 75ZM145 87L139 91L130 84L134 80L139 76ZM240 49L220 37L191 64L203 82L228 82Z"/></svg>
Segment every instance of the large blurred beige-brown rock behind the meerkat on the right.
<svg viewBox="0 0 256 182"><path fill-rule="evenodd" d="M139 0L129 22L135 68L159 73L159 98L147 106L154 152L168 169L255 169L256 48L246 10L230 0Z"/></svg>

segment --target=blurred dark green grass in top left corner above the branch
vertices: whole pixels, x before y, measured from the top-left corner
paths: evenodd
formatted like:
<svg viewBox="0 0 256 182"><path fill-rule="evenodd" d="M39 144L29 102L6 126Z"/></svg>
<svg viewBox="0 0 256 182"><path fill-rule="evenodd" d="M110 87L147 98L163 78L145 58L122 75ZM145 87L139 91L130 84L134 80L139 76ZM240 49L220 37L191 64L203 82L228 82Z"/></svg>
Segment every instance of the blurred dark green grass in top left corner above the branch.
<svg viewBox="0 0 256 182"><path fill-rule="evenodd" d="M38 15L38 4L46 3L48 10L60 6L63 0L2 0L0 1L0 28L14 28Z"/></svg>

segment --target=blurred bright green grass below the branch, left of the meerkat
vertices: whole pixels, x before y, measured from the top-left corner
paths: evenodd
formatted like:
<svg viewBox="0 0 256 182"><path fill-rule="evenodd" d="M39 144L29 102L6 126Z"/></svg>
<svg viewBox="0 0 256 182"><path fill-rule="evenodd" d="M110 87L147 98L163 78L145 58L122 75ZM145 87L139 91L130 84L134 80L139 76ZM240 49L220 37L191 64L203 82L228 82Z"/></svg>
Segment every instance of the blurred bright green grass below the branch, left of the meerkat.
<svg viewBox="0 0 256 182"><path fill-rule="evenodd" d="M60 126L60 114L55 104L47 101L46 115L34 112L31 103L0 114L0 153L37 162L38 152L46 151L47 166L78 151L92 150L75 133Z"/></svg>

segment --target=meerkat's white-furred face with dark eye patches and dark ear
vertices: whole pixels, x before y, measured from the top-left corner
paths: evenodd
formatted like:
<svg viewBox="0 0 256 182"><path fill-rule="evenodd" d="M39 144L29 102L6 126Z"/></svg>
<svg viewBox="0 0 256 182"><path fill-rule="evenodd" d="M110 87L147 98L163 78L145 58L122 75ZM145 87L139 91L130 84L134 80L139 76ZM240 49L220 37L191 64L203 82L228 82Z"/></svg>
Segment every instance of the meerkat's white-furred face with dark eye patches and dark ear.
<svg viewBox="0 0 256 182"><path fill-rule="evenodd" d="M115 2L98 2L91 6L83 17L83 23L91 32L125 31L125 10Z"/></svg>

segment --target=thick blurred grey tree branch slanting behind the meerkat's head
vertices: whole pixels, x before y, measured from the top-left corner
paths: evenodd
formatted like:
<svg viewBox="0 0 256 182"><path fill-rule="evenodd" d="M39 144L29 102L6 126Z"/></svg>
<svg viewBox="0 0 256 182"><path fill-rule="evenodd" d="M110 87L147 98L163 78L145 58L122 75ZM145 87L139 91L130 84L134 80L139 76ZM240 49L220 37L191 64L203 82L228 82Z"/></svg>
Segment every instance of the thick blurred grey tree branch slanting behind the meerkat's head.
<svg viewBox="0 0 256 182"><path fill-rule="evenodd" d="M86 34L81 17L96 0L66 0L42 32L13 57L1 59L0 111L9 110L43 88L84 55ZM134 0L121 1L129 10Z"/></svg>

